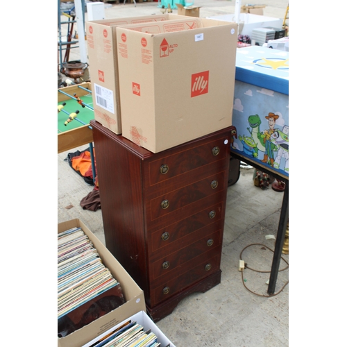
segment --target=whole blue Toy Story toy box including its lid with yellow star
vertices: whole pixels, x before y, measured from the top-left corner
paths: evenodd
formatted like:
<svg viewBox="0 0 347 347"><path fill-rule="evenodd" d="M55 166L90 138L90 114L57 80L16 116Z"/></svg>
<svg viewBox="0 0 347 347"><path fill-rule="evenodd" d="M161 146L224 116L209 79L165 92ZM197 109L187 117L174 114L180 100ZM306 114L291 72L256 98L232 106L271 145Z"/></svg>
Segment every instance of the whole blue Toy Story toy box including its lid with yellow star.
<svg viewBox="0 0 347 347"><path fill-rule="evenodd" d="M289 177L289 53L237 50L231 151Z"/></svg>

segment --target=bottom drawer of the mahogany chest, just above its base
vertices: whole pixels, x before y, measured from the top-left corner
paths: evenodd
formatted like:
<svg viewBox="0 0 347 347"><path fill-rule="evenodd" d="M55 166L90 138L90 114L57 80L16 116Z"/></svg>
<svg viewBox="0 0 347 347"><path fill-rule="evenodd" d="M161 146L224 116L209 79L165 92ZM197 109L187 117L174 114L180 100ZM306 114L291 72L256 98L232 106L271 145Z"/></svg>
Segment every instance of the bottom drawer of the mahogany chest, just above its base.
<svg viewBox="0 0 347 347"><path fill-rule="evenodd" d="M221 254L214 255L213 257L206 257L204 254L199 259L201 262L187 272L182 273L177 278L171 278L164 285L160 285L155 289L151 289L151 305L157 305L158 303L167 300L179 291L187 289L190 285L193 285L198 280L209 276L215 271L219 271L221 262ZM152 284L151 284L152 287Z"/></svg>

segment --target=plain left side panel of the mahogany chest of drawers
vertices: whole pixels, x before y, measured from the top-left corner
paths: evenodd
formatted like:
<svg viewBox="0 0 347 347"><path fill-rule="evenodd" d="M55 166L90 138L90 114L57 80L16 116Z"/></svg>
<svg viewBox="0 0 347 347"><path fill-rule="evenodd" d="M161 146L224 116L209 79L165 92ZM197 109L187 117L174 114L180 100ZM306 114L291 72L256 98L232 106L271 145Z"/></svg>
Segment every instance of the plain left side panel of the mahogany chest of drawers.
<svg viewBox="0 0 347 347"><path fill-rule="evenodd" d="M146 293L142 160L93 124L105 244Z"/></svg>

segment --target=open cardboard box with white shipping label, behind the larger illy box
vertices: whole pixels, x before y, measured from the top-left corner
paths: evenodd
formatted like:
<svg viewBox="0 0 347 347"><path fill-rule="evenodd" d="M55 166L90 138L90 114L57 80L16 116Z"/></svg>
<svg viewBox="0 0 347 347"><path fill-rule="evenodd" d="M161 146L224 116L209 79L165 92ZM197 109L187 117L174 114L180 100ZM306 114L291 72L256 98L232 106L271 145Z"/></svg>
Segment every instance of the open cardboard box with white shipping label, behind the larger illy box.
<svg viewBox="0 0 347 347"><path fill-rule="evenodd" d="M85 22L94 118L121 134L116 27L179 19L178 15L148 15Z"/></svg>

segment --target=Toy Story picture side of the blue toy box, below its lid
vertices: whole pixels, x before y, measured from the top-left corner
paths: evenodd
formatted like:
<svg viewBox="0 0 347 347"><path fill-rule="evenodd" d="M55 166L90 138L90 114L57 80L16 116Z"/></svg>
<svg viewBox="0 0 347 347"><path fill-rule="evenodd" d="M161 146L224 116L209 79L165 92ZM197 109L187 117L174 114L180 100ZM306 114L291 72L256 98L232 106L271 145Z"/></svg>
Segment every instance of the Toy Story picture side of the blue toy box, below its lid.
<svg viewBox="0 0 347 347"><path fill-rule="evenodd" d="M289 176L288 103L285 94L235 81L230 150Z"/></svg>

